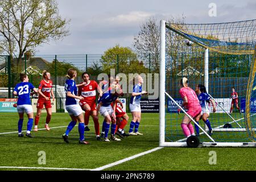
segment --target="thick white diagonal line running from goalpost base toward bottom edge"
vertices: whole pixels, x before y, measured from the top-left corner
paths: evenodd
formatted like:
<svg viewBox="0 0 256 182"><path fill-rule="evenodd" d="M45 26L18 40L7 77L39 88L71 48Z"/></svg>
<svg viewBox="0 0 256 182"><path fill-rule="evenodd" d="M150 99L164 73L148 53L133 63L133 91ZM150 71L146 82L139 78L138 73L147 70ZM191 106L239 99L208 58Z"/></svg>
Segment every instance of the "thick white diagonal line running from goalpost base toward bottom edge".
<svg viewBox="0 0 256 182"><path fill-rule="evenodd" d="M107 165L105 165L105 166L98 167L98 168L95 168L95 169L91 169L91 171L101 171L101 170L106 169L106 168L110 168L110 167L113 167L113 166L117 166L118 164L125 163L125 162L127 162L127 161L129 161L129 160L138 158L138 157L140 157L140 156L142 156L142 155L150 154L151 152L157 151L157 150L159 150L159 149L161 149L161 148L163 148L163 147L156 147L156 148L153 148L153 149L151 149L151 150L142 152L142 153L140 153L140 154L136 154L136 155L130 156L129 158L125 158L125 159L122 159L122 160L118 160L117 162L110 163L110 164L107 164Z"/></svg>

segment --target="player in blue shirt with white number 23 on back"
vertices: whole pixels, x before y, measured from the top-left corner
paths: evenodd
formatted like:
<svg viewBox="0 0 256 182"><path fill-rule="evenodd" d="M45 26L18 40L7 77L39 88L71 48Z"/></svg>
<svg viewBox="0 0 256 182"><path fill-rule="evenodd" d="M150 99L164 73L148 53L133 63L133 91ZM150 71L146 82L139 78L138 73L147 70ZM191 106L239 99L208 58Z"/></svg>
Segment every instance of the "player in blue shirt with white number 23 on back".
<svg viewBox="0 0 256 182"><path fill-rule="evenodd" d="M17 102L17 110L19 114L19 121L18 121L18 137L24 137L22 134L22 125L24 119L24 113L27 114L28 122L27 122L27 133L26 137L32 138L31 129L33 126L33 118L34 113L31 106L30 101L30 91L34 90L34 93L38 93L35 86L33 86L30 82L28 82L28 76L26 74L20 73L19 76L20 83L18 83L14 88L14 96L18 96ZM31 93L31 94L34 94Z"/></svg>

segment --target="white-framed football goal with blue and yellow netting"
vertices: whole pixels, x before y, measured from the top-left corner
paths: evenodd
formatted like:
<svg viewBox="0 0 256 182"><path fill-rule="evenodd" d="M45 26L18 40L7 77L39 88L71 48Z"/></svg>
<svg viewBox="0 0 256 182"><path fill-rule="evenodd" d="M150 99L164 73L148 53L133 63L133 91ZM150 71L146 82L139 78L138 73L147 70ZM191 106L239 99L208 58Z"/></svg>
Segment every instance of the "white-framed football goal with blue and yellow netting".
<svg viewBox="0 0 256 182"><path fill-rule="evenodd" d="M212 135L199 120L198 138L203 146L256 146L255 32L256 20L214 24L161 20L160 146L187 146L181 129L184 115L189 117L180 107L183 77L193 90L204 85L216 106L213 113L212 102L206 102Z"/></svg>

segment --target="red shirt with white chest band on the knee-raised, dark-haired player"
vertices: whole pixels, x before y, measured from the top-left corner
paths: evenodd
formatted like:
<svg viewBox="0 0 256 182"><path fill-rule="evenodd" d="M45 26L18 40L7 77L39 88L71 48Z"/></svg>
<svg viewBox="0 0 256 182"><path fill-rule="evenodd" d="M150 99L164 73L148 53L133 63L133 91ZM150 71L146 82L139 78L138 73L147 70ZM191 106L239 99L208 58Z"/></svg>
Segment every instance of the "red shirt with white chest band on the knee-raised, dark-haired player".
<svg viewBox="0 0 256 182"><path fill-rule="evenodd" d="M90 80L89 84L79 86L79 93L84 97L85 102L93 104L96 101L96 90L98 84L94 80Z"/></svg>

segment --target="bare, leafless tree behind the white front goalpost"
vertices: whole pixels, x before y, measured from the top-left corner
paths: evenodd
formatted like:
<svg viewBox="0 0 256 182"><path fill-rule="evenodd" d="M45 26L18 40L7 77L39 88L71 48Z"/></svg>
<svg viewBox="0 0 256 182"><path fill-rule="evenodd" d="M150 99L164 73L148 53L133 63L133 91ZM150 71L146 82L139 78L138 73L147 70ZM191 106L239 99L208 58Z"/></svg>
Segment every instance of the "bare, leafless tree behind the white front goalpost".
<svg viewBox="0 0 256 182"><path fill-rule="evenodd" d="M184 24L185 16L181 15L181 17L170 18L167 20L168 23L179 23ZM143 23L141 26L141 31L139 31L138 35L134 36L133 47L135 48L135 52L137 52L138 56L146 61L147 65L149 64L148 55L150 54L150 67L153 72L159 72L159 59L160 59L160 27L159 22L154 17L151 17L147 20L146 23ZM179 35L166 36L166 47L168 50L176 50L180 46L180 41L183 42L184 38ZM171 47L171 46L175 46ZM167 51L168 53L168 51ZM172 52L174 55L175 52ZM176 56L177 52L175 53ZM177 59L173 57L170 60L167 60L166 66L171 67L172 69L176 69L178 64L176 62Z"/></svg>

